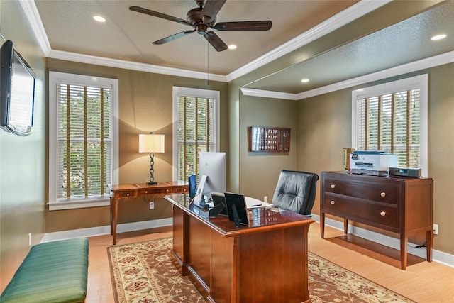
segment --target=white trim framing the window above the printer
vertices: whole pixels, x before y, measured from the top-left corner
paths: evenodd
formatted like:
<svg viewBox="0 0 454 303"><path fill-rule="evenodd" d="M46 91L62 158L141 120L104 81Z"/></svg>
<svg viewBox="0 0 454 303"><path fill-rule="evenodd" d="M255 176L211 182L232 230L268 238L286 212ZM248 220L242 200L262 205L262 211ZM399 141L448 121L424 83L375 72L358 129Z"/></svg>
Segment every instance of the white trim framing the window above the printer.
<svg viewBox="0 0 454 303"><path fill-rule="evenodd" d="M421 175L428 177L428 74L378 84L352 92L352 147L358 148L358 99L419 88L419 160Z"/></svg>

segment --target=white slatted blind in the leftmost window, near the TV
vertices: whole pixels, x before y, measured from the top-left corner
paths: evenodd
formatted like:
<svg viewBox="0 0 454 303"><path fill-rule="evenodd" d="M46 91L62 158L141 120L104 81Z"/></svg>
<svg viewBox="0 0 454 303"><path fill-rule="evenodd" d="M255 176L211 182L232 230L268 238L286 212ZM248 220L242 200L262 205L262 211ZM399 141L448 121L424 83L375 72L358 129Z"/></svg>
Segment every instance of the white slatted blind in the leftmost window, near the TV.
<svg viewBox="0 0 454 303"><path fill-rule="evenodd" d="M112 183L111 89L57 84L57 199L104 196Z"/></svg>

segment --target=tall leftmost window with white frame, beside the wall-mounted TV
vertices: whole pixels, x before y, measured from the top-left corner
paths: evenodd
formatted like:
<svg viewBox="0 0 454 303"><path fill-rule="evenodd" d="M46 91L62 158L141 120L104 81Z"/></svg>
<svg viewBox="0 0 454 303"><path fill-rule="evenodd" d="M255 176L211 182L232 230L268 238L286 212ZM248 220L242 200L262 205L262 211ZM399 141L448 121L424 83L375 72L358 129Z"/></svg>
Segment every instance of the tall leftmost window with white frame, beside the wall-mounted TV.
<svg viewBox="0 0 454 303"><path fill-rule="evenodd" d="M117 117L117 79L49 72L50 210L109 205Z"/></svg>

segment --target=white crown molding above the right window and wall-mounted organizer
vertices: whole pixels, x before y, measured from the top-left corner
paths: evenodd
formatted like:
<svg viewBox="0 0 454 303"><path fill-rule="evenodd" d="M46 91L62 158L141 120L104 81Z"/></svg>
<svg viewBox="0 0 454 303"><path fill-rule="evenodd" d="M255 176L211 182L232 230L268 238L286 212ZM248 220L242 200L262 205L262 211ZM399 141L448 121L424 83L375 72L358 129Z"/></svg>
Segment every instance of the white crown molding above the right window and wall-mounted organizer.
<svg viewBox="0 0 454 303"><path fill-rule="evenodd" d="M426 68L436 67L439 65L445 65L454 62L454 51L443 53L441 55L435 55L427 57L418 61L406 63L404 65L398 65L391 67L387 70L380 70L380 72L373 72L372 74L364 75L348 79L342 82L326 85L316 89L311 89L307 92L300 92L299 94L291 94L284 92L272 92L263 89L248 89L246 87L240 88L241 92L245 96L262 97L262 98L275 98L275 99L287 99L287 100L301 100L309 97L319 96L321 94L327 94L329 92L336 92L340 89L347 89L349 87L355 87L357 85L374 82L381 79L387 79L389 77L395 77L404 75L409 72L416 72L418 70L424 70Z"/></svg>

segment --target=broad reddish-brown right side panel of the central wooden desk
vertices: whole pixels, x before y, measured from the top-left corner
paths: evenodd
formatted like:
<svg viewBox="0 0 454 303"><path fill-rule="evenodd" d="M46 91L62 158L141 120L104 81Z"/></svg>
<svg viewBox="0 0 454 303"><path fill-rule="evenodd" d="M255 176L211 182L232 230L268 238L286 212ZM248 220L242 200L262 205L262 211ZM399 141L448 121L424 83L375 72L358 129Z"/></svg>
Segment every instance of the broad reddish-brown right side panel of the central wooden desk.
<svg viewBox="0 0 454 303"><path fill-rule="evenodd" d="M304 302L309 224L240 237L238 302Z"/></svg>

